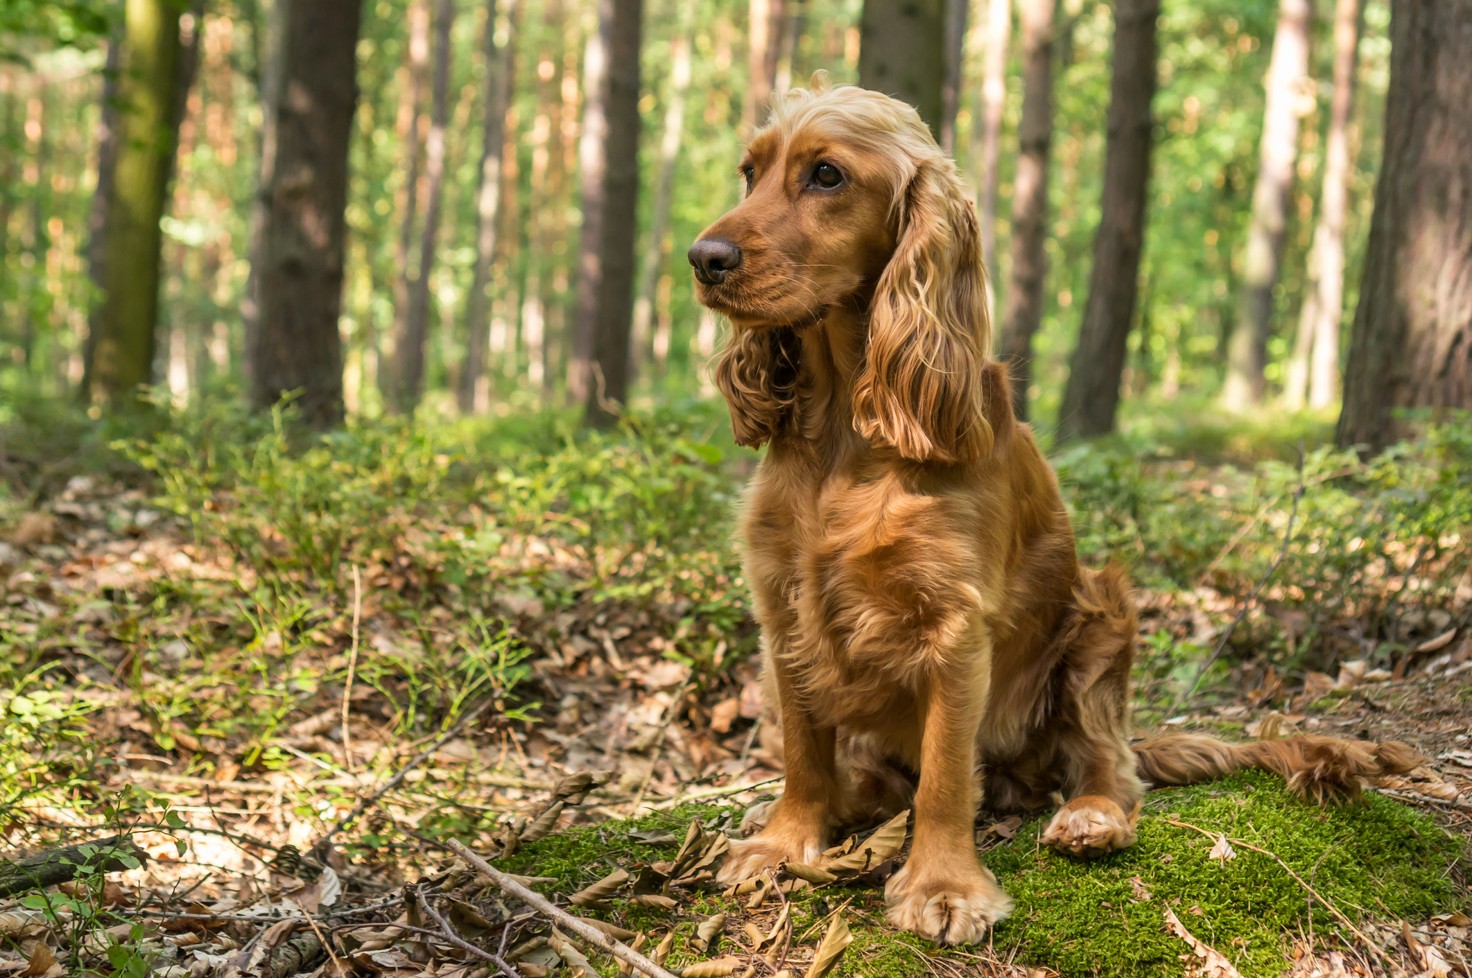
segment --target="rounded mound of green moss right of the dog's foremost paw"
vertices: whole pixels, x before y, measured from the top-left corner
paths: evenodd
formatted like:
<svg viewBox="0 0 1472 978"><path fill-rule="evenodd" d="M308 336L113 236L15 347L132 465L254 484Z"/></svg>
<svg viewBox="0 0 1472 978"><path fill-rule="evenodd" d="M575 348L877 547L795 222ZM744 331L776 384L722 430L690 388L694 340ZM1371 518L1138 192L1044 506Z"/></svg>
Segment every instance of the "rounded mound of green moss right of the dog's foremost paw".
<svg viewBox="0 0 1472 978"><path fill-rule="evenodd" d="M998 950L1069 975L1179 975L1185 944L1166 929L1169 904L1200 940L1244 975L1287 969L1287 941L1337 929L1273 859L1238 847L1209 857L1211 841L1166 819L1225 832L1276 854L1351 919L1425 919L1457 900L1460 846L1431 819L1369 794L1320 809L1282 779L1241 774L1147 796L1135 846L1092 862L1036 844L1047 819L1025 825L986 856L1017 909L997 928ZM1147 896L1148 894L1148 896Z"/></svg>

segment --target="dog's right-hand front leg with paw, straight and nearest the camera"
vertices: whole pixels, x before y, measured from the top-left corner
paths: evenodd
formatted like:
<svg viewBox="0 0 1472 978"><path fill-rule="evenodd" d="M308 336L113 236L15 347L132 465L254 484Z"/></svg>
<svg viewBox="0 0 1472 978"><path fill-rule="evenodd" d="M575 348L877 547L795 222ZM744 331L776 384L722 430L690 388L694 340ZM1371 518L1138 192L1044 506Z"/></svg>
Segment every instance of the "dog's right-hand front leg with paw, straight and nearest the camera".
<svg viewBox="0 0 1472 978"><path fill-rule="evenodd" d="M976 854L976 734L989 647L936 669L920 697L920 790L910 859L885 887L889 922L938 944L969 944L1011 912Z"/></svg>

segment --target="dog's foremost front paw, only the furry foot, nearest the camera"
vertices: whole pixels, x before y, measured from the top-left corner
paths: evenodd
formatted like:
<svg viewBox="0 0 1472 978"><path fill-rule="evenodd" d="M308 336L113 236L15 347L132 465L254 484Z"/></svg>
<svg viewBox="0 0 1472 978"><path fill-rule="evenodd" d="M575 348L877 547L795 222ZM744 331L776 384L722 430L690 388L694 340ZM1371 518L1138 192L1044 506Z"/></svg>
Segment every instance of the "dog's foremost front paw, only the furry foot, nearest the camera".
<svg viewBox="0 0 1472 978"><path fill-rule="evenodd" d="M901 866L885 887L886 916L898 928L936 944L974 944L1011 913L1013 902L997 877L966 856L973 869L927 872L914 862Z"/></svg>

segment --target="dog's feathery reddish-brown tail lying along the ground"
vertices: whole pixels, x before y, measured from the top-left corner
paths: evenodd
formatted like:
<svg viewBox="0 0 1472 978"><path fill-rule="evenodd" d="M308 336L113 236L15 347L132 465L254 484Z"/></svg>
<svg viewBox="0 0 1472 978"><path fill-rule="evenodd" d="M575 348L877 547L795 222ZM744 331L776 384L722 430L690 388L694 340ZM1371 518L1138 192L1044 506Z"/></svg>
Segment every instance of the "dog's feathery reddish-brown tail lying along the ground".
<svg viewBox="0 0 1472 978"><path fill-rule="evenodd" d="M1157 785L1197 784L1257 768L1282 775L1300 797L1326 800L1360 797L1360 778L1406 774L1425 762L1398 740L1378 744L1304 734L1248 744L1197 734L1166 734L1132 746L1139 775Z"/></svg>

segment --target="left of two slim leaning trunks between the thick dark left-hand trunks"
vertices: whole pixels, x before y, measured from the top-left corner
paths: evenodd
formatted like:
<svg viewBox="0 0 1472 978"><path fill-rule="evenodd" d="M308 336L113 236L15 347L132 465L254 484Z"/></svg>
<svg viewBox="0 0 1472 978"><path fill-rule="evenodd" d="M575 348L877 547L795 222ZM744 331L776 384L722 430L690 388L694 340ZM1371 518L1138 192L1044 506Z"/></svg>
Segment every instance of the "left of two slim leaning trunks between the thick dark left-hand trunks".
<svg viewBox="0 0 1472 978"><path fill-rule="evenodd" d="M399 410L412 412L424 391L424 343L430 329L430 274L434 271L434 250L440 234L440 206L445 190L445 128L449 125L450 90L450 26L455 24L453 0L436 4L434 85L430 100L430 134L424 141L424 232L420 237L420 274L409 290L409 315L405 321L403 346L399 357Z"/></svg>

